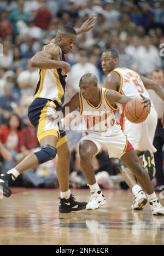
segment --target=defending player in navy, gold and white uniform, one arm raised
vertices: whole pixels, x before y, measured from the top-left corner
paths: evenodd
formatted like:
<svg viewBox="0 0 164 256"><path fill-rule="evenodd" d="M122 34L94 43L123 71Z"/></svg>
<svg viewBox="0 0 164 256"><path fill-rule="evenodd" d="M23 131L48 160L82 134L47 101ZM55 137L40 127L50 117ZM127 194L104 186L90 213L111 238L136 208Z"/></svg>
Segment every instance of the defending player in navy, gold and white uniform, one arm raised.
<svg viewBox="0 0 164 256"><path fill-rule="evenodd" d="M0 192L9 197L9 184L20 173L38 166L58 156L57 177L60 184L60 212L79 211L85 208L85 202L77 202L69 190L69 149L65 132L58 125L54 126L45 115L62 108L66 90L66 77L70 65L65 60L77 38L77 35L89 31L96 19L92 15L76 32L73 27L65 25L58 29L57 36L45 45L43 50L34 55L31 65L38 68L38 83L34 101L28 109L28 117L36 127L40 151L28 155L19 165L0 177ZM63 160L64 158L64 160Z"/></svg>

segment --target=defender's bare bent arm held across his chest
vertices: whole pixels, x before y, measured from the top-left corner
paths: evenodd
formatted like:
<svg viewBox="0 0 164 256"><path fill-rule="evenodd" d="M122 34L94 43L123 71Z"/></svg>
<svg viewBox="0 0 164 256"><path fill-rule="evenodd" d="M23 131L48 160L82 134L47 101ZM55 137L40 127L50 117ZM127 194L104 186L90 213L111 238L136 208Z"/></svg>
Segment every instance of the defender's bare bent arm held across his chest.
<svg viewBox="0 0 164 256"><path fill-rule="evenodd" d="M42 51L36 53L31 59L31 66L39 69L62 68L65 74L71 68L69 63L60 60L60 49L55 44L45 45Z"/></svg>

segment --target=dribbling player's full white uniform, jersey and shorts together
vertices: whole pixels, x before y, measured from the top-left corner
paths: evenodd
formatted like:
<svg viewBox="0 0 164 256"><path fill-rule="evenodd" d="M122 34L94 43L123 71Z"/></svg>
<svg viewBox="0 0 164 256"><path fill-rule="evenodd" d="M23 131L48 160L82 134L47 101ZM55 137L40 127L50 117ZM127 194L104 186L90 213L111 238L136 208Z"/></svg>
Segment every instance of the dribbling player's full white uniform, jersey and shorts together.
<svg viewBox="0 0 164 256"><path fill-rule="evenodd" d="M112 107L108 102L106 97L108 89L99 88L99 90L101 100L97 107L85 100L79 92L80 114L85 126L80 142L94 143L97 148L96 154L102 147L106 147L110 158L121 158L126 152L133 150L133 147L115 120L114 112L117 106Z"/></svg>

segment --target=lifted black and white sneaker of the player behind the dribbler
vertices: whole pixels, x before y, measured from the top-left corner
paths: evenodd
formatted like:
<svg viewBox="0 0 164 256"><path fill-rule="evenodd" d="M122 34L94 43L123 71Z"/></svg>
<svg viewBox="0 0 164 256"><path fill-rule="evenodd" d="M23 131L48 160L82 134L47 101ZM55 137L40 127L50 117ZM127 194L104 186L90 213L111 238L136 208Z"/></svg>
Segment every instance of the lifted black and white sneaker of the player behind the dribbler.
<svg viewBox="0 0 164 256"><path fill-rule="evenodd" d="M155 177L155 162L154 162L154 154L151 150L146 150L143 154L143 167L145 171L149 173L150 180Z"/></svg>

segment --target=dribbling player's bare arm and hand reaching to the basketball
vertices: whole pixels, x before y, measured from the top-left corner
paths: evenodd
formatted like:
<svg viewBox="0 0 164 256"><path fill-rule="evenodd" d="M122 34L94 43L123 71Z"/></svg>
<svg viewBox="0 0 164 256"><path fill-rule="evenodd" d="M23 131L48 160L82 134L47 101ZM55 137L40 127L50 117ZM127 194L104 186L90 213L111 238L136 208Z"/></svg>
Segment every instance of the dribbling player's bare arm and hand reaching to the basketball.
<svg viewBox="0 0 164 256"><path fill-rule="evenodd" d="M107 100L113 107L114 107L115 103L120 103L120 104L126 105L127 102L133 100L131 97L121 95L121 94L119 94L119 92L114 91L114 90L108 90L106 96L107 96ZM140 94L140 96L143 98L143 104L145 105L145 107L148 107L149 112L150 112L151 101L149 100L149 98L144 97L142 94Z"/></svg>

